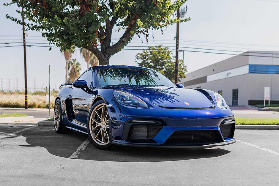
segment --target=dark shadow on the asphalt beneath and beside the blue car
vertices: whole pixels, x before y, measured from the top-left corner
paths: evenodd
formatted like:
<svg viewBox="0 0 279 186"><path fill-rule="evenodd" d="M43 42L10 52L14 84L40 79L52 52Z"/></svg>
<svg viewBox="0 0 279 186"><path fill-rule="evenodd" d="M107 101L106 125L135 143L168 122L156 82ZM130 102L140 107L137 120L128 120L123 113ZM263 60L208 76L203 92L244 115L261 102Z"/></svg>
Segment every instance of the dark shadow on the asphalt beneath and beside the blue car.
<svg viewBox="0 0 279 186"><path fill-rule="evenodd" d="M52 155L69 158L73 152L86 140L86 134L73 132L72 134L57 134L53 128L37 127L36 130L22 134L30 145L40 146ZM97 149L90 143L78 157L83 160L116 161L116 162L161 162L178 161L200 158L219 157L230 151L220 148L148 148L112 146L109 150Z"/></svg>

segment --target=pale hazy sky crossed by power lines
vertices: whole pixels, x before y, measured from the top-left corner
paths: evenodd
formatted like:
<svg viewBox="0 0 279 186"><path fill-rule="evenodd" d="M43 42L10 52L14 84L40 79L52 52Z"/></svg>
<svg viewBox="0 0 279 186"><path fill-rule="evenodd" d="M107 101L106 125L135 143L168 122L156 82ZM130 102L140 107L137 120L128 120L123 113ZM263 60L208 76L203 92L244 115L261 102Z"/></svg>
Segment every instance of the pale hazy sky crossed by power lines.
<svg viewBox="0 0 279 186"><path fill-rule="evenodd" d="M9 14L20 18L20 15L16 13L18 7L2 5L10 1L2 0L0 4L0 90L23 90L23 47L17 46L23 42L22 26L5 17ZM179 50L184 51L179 52L179 59L184 59L188 73L249 50L279 51L279 0L188 0L183 7L186 5L185 17L191 20L179 24ZM49 51L48 41L40 32L26 33L26 45L32 42L29 45L46 46L26 47L28 92L49 85L49 65L51 90L58 89L65 83L63 54L59 48ZM133 37L124 50L111 57L109 64L137 66L135 55L148 46L175 48L176 24L164 28L163 34L160 30L149 33L148 43L144 37ZM121 34L115 32L112 42ZM79 49L72 58L80 62L82 72L87 69Z"/></svg>

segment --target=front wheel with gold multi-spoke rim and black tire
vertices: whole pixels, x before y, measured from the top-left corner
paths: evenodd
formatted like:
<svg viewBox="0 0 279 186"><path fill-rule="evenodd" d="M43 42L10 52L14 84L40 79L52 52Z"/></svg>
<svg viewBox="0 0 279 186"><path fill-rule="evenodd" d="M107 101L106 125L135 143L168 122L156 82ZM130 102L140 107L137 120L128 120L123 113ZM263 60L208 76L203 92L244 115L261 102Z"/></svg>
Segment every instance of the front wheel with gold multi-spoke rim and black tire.
<svg viewBox="0 0 279 186"><path fill-rule="evenodd" d="M87 133L94 146L103 150L111 147L109 127L108 109L105 102L99 100L90 109L87 119Z"/></svg>

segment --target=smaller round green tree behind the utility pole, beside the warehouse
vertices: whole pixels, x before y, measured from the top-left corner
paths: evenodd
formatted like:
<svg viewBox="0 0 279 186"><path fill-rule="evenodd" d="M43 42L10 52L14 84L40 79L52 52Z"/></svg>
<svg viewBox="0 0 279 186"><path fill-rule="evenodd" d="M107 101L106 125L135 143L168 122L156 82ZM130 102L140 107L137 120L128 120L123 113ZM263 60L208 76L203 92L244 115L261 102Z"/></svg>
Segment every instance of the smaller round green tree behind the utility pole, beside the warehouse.
<svg viewBox="0 0 279 186"><path fill-rule="evenodd" d="M169 80L174 82L174 70L175 70L175 57L172 56L172 51L168 47L162 47L162 45L155 47L148 47L142 53L136 55L136 61L138 66L147 67L161 72ZM185 72L187 66L184 65L183 60L179 60L178 79L186 78Z"/></svg>

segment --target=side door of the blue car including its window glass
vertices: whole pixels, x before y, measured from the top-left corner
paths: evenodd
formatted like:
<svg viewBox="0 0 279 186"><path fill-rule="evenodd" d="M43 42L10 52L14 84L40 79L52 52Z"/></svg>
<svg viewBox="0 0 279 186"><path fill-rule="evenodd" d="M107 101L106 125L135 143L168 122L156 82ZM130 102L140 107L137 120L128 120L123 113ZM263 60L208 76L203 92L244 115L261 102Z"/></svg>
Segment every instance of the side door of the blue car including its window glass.
<svg viewBox="0 0 279 186"><path fill-rule="evenodd" d="M92 70L85 71L78 80L85 80L87 82L88 89L76 88L69 92L68 98L72 100L72 110L74 112L74 122L86 126L87 117L90 111L90 87L93 86Z"/></svg>

